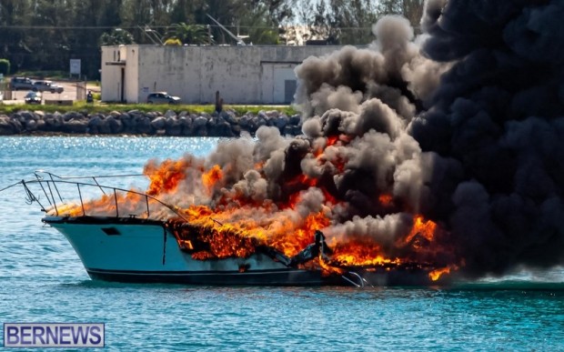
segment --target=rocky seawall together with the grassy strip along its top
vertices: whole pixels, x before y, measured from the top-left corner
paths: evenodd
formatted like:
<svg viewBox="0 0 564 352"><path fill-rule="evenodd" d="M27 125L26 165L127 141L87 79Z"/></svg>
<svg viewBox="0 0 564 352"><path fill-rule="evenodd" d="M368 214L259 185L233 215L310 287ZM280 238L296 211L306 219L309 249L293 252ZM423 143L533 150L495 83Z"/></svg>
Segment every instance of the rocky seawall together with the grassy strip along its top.
<svg viewBox="0 0 564 352"><path fill-rule="evenodd" d="M0 106L0 136L223 136L254 135L275 126L283 136L301 134L291 106L92 105Z"/></svg>

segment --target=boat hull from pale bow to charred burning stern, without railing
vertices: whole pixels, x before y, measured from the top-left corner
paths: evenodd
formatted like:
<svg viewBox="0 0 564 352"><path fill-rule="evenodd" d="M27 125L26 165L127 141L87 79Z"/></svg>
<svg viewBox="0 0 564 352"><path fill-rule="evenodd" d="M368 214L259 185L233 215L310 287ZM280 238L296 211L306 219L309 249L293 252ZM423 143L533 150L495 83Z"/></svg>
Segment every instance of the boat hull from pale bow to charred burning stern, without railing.
<svg viewBox="0 0 564 352"><path fill-rule="evenodd" d="M332 259L320 231L286 256L257 239L174 219L45 216L75 248L90 277L106 281L220 286L428 285L428 267L354 267Z"/></svg>

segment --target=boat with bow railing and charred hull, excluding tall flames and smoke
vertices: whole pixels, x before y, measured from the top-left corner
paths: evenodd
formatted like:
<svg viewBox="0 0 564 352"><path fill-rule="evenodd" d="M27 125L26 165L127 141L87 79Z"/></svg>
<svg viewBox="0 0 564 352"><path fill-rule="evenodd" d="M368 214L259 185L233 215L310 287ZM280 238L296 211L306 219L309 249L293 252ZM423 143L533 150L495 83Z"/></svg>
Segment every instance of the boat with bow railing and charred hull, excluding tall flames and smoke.
<svg viewBox="0 0 564 352"><path fill-rule="evenodd" d="M35 172L21 181L42 221L63 234L93 279L188 285L322 286L425 285L431 267L374 258L355 266L335 252L326 236L313 231L311 243L294 256L256 236L244 236L213 216L193 224L186 211L146 193L103 186L102 176L69 177ZM91 182L88 181L91 180ZM66 198L68 189L76 197ZM83 197L95 189L96 201ZM40 199L44 199L40 202ZM136 210L131 213L131 202ZM167 216L163 216L167 213ZM166 218L166 219L163 219Z"/></svg>

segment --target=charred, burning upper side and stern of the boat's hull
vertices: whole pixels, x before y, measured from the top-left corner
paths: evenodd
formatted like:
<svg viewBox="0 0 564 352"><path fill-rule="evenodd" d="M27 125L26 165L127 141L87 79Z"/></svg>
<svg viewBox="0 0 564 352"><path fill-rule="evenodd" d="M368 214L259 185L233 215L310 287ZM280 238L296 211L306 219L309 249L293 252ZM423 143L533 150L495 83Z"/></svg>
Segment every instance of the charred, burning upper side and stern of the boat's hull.
<svg viewBox="0 0 564 352"><path fill-rule="evenodd" d="M436 269L430 264L381 258L376 258L369 264L349 264L346 260L333 257L334 251L327 245L326 236L319 230L315 231L311 244L295 256L287 256L275 247L261 243L257 238L239 236L233 231L221 232L212 226L193 226L178 218L168 220L166 227L176 237L181 250L194 259L247 258L253 254L263 254L289 268L320 271L324 277L327 277L327 282L332 284L337 284L337 277L342 277L345 283L355 286L364 286L370 282L376 282L378 285L383 282L389 284L390 281L404 285L416 283L427 285L449 270L448 267ZM248 266L239 267L242 273L248 269ZM427 274L425 278L424 273ZM352 277L352 280L348 277Z"/></svg>

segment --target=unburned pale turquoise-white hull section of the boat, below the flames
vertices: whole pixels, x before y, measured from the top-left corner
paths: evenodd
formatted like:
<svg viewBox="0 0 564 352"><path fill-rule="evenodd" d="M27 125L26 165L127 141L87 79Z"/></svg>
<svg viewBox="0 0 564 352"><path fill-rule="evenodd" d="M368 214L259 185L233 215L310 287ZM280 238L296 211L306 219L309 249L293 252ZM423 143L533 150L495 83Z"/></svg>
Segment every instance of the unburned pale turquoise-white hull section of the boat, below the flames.
<svg viewBox="0 0 564 352"><path fill-rule="evenodd" d="M287 267L264 254L196 260L165 223L135 217L45 216L69 241L93 279L187 285L321 286L342 280Z"/></svg>

